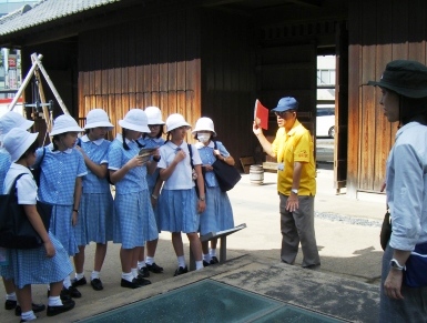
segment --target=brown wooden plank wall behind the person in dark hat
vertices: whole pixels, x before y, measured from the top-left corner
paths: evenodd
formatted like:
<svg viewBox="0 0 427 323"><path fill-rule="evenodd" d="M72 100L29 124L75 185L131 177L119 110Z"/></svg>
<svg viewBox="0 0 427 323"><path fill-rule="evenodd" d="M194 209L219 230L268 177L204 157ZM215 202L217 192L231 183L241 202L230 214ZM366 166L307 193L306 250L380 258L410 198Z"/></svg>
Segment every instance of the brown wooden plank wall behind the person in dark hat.
<svg viewBox="0 0 427 323"><path fill-rule="evenodd" d="M349 0L349 95L347 194L378 192L397 123L379 105L379 80L387 62L426 63L427 1Z"/></svg>

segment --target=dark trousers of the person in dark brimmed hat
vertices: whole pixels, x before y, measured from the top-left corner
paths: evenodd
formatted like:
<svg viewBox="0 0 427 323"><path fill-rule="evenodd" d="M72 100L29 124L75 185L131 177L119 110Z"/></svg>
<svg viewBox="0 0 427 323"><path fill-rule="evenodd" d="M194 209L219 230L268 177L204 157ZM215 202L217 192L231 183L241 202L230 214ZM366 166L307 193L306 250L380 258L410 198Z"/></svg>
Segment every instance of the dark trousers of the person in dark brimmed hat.
<svg viewBox="0 0 427 323"><path fill-rule="evenodd" d="M404 300L392 300L384 294L384 282L390 270L393 248L387 244L383 255L382 284L379 295L379 322L427 322L427 287L411 289L401 284Z"/></svg>

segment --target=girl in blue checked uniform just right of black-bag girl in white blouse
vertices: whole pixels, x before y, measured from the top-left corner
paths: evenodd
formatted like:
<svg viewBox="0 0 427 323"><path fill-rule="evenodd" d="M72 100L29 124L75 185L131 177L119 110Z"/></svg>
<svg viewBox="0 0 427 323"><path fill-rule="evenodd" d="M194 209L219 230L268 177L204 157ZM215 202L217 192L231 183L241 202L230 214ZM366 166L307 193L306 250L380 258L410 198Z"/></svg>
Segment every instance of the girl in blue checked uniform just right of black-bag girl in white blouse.
<svg viewBox="0 0 427 323"><path fill-rule="evenodd" d="M82 176L88 174L83 155L74 149L78 134L83 131L71 115L62 114L53 121L52 142L37 151L40 165L39 196L53 205L50 231L60 240L70 256L79 252L74 226L79 221ZM81 297L71 285L70 276L63 282L61 296Z"/></svg>

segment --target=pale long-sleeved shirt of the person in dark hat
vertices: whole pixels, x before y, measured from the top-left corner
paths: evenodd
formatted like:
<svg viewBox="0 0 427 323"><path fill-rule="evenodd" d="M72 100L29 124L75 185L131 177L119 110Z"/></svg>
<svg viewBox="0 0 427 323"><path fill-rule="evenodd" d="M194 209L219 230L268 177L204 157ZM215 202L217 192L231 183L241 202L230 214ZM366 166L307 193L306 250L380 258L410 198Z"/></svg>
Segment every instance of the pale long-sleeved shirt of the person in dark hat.
<svg viewBox="0 0 427 323"><path fill-rule="evenodd" d="M413 251L427 242L427 127L409 122L396 133L387 159L390 246Z"/></svg>

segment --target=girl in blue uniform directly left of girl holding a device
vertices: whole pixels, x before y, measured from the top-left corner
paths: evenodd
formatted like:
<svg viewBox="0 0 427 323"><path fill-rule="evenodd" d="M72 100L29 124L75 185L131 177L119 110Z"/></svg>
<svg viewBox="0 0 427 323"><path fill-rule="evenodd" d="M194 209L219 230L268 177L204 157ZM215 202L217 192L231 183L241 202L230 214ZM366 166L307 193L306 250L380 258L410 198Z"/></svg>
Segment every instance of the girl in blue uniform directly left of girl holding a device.
<svg viewBox="0 0 427 323"><path fill-rule="evenodd" d="M75 225L75 240L79 253L74 255L75 279L72 285L87 284L83 274L84 249L91 241L96 243L91 286L103 290L100 272L106 254L106 243L113 239L113 198L108 174L108 152L110 141L105 140L108 131L113 129L109 117L102 109L93 109L87 115L85 134L75 147L84 158L88 174L83 178L79 221Z"/></svg>

